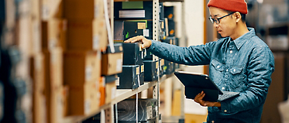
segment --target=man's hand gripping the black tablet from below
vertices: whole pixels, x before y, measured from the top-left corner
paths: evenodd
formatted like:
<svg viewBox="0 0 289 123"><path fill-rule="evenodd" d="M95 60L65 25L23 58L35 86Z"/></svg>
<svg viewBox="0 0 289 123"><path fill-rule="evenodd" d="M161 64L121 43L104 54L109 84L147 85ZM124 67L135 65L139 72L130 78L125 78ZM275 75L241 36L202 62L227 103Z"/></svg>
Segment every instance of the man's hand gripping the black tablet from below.
<svg viewBox="0 0 289 123"><path fill-rule="evenodd" d="M204 101L203 98L205 97L205 93L204 91L201 91L201 93L197 94L195 97L195 102L197 102L198 104L200 104L201 106L216 106L216 107L221 107L221 103L220 102L208 102L208 101Z"/></svg>

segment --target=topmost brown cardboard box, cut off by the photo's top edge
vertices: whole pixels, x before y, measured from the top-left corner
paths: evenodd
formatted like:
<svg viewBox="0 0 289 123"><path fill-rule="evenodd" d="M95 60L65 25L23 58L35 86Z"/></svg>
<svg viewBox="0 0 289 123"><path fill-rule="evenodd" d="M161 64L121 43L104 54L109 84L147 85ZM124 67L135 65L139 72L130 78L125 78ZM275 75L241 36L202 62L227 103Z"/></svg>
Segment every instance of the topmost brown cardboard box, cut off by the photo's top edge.
<svg viewBox="0 0 289 123"><path fill-rule="evenodd" d="M97 19L99 17L104 17L104 3L102 0L63 1L64 16L67 19Z"/></svg>

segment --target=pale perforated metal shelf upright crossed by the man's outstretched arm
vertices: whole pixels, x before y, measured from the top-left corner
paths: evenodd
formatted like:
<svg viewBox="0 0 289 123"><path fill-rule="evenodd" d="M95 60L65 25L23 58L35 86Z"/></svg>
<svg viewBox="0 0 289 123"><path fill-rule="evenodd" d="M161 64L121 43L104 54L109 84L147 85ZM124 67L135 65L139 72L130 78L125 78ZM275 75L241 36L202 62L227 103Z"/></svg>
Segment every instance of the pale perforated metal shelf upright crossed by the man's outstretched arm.
<svg viewBox="0 0 289 123"><path fill-rule="evenodd" d="M159 28L159 23L160 23L160 14L159 14L159 8L160 8L160 3L158 0L153 0L153 39L155 41L159 41L159 35L158 35L158 28ZM158 60L158 59L156 59ZM158 107L160 106L160 77L159 74L160 73L160 66L158 66L158 81L156 86L154 86L154 91L153 91L153 95L154 95L154 99L158 100L158 106L156 107L156 123L158 123L158 119L159 119L159 111L158 111Z"/></svg>

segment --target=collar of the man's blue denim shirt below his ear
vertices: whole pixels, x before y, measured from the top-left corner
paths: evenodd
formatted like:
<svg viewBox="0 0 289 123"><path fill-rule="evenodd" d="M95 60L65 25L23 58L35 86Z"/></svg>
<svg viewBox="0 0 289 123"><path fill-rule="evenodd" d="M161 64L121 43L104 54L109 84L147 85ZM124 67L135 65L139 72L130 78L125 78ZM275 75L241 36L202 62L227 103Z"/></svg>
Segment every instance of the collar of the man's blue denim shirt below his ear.
<svg viewBox="0 0 289 123"><path fill-rule="evenodd" d="M238 48L238 50L247 40L249 40L251 37L256 35L254 28L248 28L248 30L249 32L247 32L245 35L242 35L241 37L238 37L238 39L235 39L233 41L236 47Z"/></svg>

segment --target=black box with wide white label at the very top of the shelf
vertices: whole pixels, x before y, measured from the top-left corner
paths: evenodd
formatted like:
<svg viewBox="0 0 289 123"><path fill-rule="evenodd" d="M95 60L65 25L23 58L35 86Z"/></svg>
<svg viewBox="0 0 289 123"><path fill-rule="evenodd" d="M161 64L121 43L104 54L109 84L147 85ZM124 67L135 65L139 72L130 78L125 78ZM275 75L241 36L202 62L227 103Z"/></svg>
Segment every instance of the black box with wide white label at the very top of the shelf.
<svg viewBox="0 0 289 123"><path fill-rule="evenodd" d="M125 4L142 4L142 7L126 7ZM124 1L114 2L114 19L153 19L152 1Z"/></svg>

